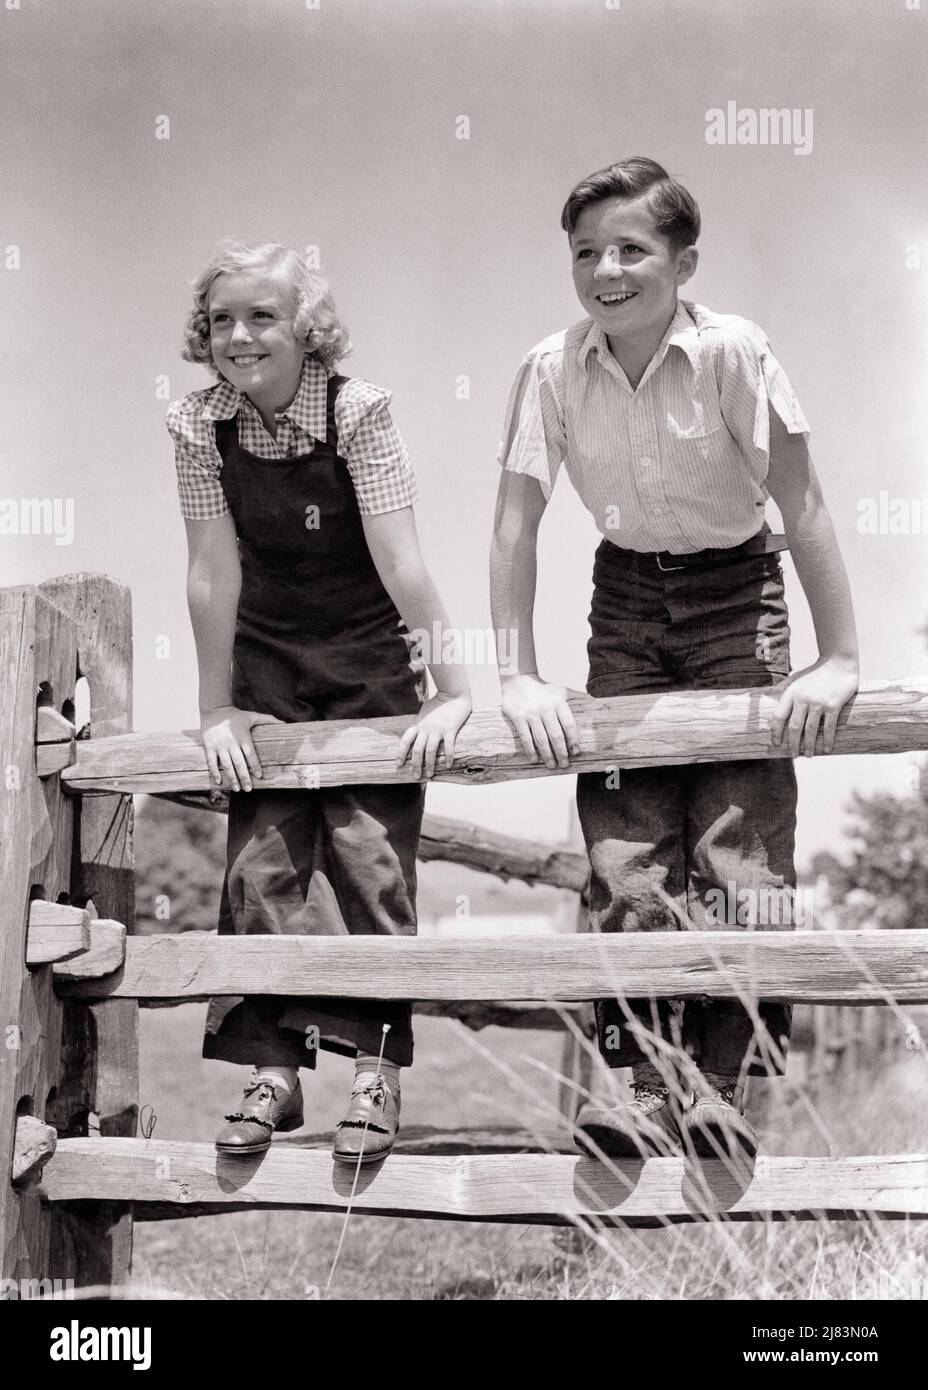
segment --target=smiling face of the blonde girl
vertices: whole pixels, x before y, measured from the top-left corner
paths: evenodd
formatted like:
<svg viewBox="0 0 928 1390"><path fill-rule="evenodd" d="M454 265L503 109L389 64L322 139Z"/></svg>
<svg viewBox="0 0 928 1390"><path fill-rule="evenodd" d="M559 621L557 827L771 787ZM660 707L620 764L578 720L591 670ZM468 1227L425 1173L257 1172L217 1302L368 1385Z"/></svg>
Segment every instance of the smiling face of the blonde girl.
<svg viewBox="0 0 928 1390"><path fill-rule="evenodd" d="M293 334L293 303L281 275L226 271L208 302L217 371L271 410L289 406L300 384L306 343Z"/></svg>

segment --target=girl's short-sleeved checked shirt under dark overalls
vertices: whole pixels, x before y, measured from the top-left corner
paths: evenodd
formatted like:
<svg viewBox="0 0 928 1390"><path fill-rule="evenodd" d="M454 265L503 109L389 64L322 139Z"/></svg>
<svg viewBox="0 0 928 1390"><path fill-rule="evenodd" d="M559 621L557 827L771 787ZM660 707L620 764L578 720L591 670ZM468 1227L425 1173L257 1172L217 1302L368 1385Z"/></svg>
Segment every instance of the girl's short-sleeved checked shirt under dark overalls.
<svg viewBox="0 0 928 1390"><path fill-rule="evenodd" d="M295 459L311 453L314 441L325 441L326 384L322 363L307 356L293 400L276 416L276 439L267 432L249 398L228 381L192 391L168 406L182 516L208 521L229 510L219 484L217 420L238 416L239 443L258 459ZM382 386L351 377L335 402L339 455L351 474L358 510L368 516L397 512L418 500L406 445L390 417L390 398L392 392Z"/></svg>

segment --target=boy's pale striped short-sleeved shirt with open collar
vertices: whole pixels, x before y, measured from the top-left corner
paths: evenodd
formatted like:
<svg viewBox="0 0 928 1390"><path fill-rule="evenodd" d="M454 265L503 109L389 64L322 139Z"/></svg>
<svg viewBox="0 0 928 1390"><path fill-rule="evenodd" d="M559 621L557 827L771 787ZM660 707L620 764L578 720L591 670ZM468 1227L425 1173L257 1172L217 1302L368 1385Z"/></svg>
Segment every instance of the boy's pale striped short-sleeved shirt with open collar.
<svg viewBox="0 0 928 1390"><path fill-rule="evenodd" d="M806 417L767 338L747 318L679 300L636 389L592 318L525 356L499 461L550 496L567 475L614 545L685 555L760 530L772 406Z"/></svg>

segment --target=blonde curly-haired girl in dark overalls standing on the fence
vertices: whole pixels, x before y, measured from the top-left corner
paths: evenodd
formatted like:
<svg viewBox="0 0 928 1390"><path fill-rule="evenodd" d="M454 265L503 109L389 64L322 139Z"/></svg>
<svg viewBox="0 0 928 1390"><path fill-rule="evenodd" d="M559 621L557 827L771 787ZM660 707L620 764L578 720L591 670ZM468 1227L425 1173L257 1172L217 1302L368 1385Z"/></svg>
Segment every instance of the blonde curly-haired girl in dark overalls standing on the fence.
<svg viewBox="0 0 928 1390"><path fill-rule="evenodd" d="M453 663L435 664L425 699L410 630L447 616L420 555L390 392L338 375L347 352L326 282L276 242L226 245L193 282L183 356L218 384L175 402L167 424L200 728L211 780L229 791L221 933L415 933L424 788L263 791L256 724L417 714L397 764L410 756L431 777L471 712ZM261 1152L275 1129L299 1129L297 1068L315 1066L317 1042L356 1058L335 1156L392 1150L410 1005L257 997L213 999L207 1013L203 1055L256 1068L221 1152Z"/></svg>

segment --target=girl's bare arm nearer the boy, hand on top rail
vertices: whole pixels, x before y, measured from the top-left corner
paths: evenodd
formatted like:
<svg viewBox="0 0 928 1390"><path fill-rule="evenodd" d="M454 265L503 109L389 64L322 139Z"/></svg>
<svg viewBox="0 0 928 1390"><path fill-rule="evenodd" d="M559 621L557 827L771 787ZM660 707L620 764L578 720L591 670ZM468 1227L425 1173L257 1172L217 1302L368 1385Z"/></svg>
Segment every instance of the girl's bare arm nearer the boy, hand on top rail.
<svg viewBox="0 0 928 1390"><path fill-rule="evenodd" d="M376 573L410 632L425 632L428 641L436 628L449 632L445 605L420 550L413 507L375 516L361 513L361 524ZM396 764L400 767L410 756L417 777L433 776L442 744L446 766L451 766L454 738L472 709L467 669L463 662L445 662L442 646L422 653L438 694L425 702L420 719L400 739Z"/></svg>

